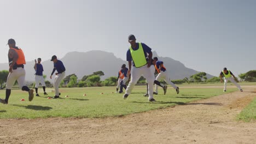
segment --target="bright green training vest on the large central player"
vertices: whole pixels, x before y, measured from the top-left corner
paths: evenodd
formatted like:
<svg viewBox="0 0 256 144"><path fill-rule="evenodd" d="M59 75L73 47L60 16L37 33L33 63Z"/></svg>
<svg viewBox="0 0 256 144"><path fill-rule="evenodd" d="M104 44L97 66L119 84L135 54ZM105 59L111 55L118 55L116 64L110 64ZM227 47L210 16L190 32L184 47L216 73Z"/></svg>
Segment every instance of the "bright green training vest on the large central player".
<svg viewBox="0 0 256 144"><path fill-rule="evenodd" d="M130 46L132 61L135 64L136 68L143 67L144 65L147 64L147 59L145 57L143 47L141 43L138 43L138 44L139 44L139 48L136 51L133 50L132 47Z"/></svg>

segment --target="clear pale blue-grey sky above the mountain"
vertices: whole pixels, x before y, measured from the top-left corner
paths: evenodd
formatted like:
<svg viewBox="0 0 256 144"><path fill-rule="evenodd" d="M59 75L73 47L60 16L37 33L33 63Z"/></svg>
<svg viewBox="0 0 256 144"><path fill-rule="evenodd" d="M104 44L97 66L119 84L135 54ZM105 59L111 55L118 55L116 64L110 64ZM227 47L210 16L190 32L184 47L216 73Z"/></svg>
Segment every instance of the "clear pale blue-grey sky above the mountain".
<svg viewBox="0 0 256 144"><path fill-rule="evenodd" d="M135 34L159 56L212 75L223 67L236 75L256 69L252 0L8 0L0 17L0 63L8 62L9 38L27 61L90 50L126 59L127 37Z"/></svg>

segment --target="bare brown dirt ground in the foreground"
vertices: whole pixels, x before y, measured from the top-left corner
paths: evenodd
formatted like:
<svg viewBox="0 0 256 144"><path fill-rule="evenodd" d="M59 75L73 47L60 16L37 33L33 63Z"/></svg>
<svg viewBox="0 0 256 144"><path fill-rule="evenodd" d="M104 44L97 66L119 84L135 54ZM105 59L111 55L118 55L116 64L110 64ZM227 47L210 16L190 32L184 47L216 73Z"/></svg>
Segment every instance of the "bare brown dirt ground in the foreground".
<svg viewBox="0 0 256 144"><path fill-rule="evenodd" d="M0 119L0 143L256 143L256 121L236 121L256 97L243 88L125 117Z"/></svg>

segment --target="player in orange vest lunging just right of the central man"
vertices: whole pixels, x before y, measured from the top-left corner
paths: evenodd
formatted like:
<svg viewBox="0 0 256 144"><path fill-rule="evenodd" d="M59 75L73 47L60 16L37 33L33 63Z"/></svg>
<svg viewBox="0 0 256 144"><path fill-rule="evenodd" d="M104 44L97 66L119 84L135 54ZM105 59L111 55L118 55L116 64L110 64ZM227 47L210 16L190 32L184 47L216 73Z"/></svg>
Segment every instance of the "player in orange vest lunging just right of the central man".
<svg viewBox="0 0 256 144"><path fill-rule="evenodd" d="M158 71L158 76L156 76L155 80L159 81L160 79L164 79L165 82L171 85L176 90L177 94L179 94L179 87L174 85L169 79L166 68L164 67L164 62L158 61L158 57L154 57L154 60L156 61L155 69ZM153 94L158 94L158 85L155 85L155 92Z"/></svg>

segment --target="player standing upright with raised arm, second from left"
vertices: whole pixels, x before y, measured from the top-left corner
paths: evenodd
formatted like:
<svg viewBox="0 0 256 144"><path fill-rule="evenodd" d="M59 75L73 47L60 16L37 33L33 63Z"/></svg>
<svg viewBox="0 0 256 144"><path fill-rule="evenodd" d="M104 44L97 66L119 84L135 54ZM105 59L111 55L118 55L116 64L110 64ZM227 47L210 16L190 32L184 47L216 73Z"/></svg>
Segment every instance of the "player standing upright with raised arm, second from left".
<svg viewBox="0 0 256 144"><path fill-rule="evenodd" d="M44 82L44 76L43 76L43 65L41 64L41 58L38 58L37 60L34 59L34 70L36 70L36 76L35 76L35 81L36 81L36 96L39 96L38 94L38 86L39 83L41 83L41 85L43 86L43 90L44 90L44 95L47 95L47 93L45 92L45 82Z"/></svg>

